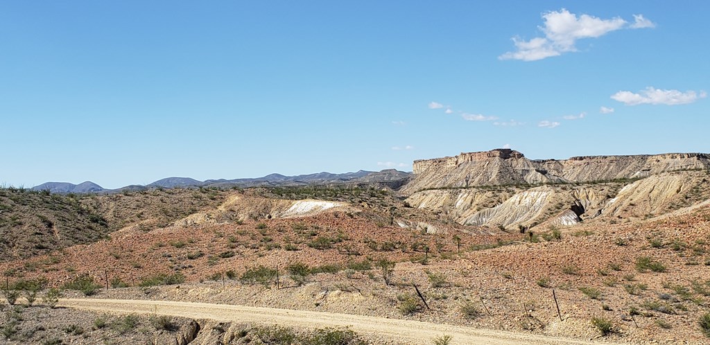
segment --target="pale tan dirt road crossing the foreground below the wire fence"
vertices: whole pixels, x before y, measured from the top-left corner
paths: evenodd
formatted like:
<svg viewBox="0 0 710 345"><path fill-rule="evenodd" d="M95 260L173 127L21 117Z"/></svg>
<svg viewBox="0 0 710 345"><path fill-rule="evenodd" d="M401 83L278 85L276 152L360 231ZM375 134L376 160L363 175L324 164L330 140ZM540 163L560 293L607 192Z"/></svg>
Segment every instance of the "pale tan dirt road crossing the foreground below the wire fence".
<svg viewBox="0 0 710 345"><path fill-rule="evenodd" d="M443 334L452 336L453 344L604 344L597 341L516 334L447 324L433 324L430 322L241 305L149 300L62 299L58 306L104 312L154 313L198 320L209 319L219 322L278 324L288 327L350 327L361 334L377 334L379 338L401 341L405 344L432 344L433 338Z"/></svg>

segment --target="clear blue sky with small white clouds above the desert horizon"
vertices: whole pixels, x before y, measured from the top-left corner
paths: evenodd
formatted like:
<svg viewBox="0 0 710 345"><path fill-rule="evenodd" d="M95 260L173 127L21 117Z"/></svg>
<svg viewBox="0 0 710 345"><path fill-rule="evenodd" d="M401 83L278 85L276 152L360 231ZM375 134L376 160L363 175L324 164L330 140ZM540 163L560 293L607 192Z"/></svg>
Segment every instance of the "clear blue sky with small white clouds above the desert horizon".
<svg viewBox="0 0 710 345"><path fill-rule="evenodd" d="M709 10L0 1L0 182L411 170L504 146L710 152Z"/></svg>

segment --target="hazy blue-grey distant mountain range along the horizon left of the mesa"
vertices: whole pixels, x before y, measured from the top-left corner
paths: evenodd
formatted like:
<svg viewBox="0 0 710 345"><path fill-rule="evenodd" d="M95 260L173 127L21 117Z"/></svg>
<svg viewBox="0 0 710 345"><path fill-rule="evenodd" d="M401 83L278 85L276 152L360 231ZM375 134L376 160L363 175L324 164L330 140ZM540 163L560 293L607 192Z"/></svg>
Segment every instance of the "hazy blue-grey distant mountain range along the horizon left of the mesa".
<svg viewBox="0 0 710 345"><path fill-rule="evenodd" d="M111 193L123 190L149 190L153 188L189 188L189 187L288 187L300 185L383 185L398 188L408 182L409 172L395 169L382 171L345 172L343 174L333 174L330 172L317 172L315 174L285 176L271 174L256 178L239 178L234 180L205 180L198 181L190 177L167 177L155 181L148 185L128 185L115 190L105 189L94 182L82 182L74 185L69 182L45 182L32 187L32 190L49 190L53 193Z"/></svg>

